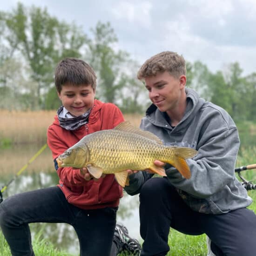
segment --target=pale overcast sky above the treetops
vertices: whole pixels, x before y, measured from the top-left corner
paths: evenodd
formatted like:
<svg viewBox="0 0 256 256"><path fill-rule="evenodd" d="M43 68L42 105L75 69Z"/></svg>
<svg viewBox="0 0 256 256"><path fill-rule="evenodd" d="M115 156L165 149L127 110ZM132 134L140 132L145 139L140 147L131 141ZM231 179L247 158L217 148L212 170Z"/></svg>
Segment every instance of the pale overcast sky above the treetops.
<svg viewBox="0 0 256 256"><path fill-rule="evenodd" d="M119 48L142 64L162 51L202 61L213 72L239 62L256 72L256 0L21 0L47 7L59 20L89 29L111 23ZM1 0L10 11L16 0Z"/></svg>

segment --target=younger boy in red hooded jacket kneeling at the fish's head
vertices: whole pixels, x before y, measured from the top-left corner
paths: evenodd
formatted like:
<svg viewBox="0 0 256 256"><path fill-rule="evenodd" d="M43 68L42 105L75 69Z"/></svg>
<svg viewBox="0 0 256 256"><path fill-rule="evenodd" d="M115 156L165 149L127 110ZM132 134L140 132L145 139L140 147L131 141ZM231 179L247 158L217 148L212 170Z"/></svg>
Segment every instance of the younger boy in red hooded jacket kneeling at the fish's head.
<svg viewBox="0 0 256 256"><path fill-rule="evenodd" d="M56 158L83 136L112 129L124 121L119 108L95 100L96 75L86 62L67 58L55 69L62 106L47 130L59 175L58 186L11 196L0 204L0 225L13 256L33 256L28 224L64 222L72 225L81 256L115 256L122 250L137 255L140 244L116 225L122 188L114 175L94 179L87 168L58 168Z"/></svg>

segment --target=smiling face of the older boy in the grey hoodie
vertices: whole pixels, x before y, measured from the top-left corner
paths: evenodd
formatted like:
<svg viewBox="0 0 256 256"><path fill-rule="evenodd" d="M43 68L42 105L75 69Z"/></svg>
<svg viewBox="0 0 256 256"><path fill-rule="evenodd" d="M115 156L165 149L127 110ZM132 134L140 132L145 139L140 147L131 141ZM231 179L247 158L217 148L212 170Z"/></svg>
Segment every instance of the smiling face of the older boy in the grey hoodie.
<svg viewBox="0 0 256 256"><path fill-rule="evenodd" d="M172 113L186 105L186 76L175 78L168 71L145 77L149 99L162 112Z"/></svg>

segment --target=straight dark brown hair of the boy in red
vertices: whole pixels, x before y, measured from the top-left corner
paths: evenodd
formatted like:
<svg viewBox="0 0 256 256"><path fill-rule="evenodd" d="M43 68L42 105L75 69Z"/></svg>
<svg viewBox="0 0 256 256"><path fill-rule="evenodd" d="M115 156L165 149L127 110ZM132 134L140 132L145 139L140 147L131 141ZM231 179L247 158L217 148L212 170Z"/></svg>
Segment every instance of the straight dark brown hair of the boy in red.
<svg viewBox="0 0 256 256"><path fill-rule="evenodd" d="M96 74L93 68L80 59L66 58L59 62L55 68L54 75L55 86L58 93L65 84L72 85L91 85L96 88Z"/></svg>

